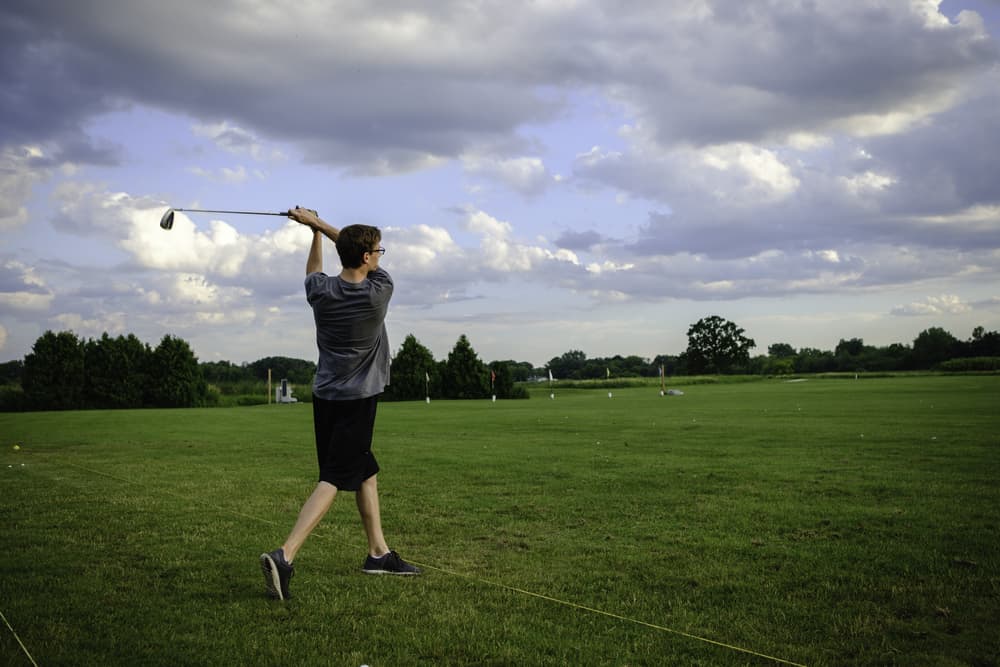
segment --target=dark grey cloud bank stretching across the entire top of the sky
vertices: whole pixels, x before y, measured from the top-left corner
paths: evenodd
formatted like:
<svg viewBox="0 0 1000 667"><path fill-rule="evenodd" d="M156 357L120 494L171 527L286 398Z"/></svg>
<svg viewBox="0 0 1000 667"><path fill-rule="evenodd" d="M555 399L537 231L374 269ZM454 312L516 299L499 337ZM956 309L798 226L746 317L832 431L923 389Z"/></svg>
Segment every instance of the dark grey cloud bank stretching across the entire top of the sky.
<svg viewBox="0 0 1000 667"><path fill-rule="evenodd" d="M593 88L665 145L753 141L891 111L996 62L977 25L905 2L5 3L7 141L86 147L126 104L232 120L308 158L391 171L502 145Z"/></svg>

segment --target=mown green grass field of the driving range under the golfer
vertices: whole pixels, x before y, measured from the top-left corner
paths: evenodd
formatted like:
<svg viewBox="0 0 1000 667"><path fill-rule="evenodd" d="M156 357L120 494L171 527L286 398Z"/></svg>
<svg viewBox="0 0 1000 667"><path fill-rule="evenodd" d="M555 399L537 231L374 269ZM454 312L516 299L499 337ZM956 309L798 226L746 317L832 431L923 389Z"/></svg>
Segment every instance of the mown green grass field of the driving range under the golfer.
<svg viewBox="0 0 1000 667"><path fill-rule="evenodd" d="M308 405L0 415L0 664L998 664L1000 377L684 390L383 404L286 603Z"/></svg>

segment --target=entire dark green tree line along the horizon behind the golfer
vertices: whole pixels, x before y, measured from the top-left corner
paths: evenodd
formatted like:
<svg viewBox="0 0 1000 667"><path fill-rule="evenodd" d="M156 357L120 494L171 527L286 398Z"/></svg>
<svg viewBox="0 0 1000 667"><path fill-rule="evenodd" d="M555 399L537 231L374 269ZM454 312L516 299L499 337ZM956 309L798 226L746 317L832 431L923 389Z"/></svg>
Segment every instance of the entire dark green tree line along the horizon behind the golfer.
<svg viewBox="0 0 1000 667"><path fill-rule="evenodd" d="M553 357L543 367L526 361L480 360L462 334L446 359L435 360L413 334L393 356L386 400L527 398L523 383L548 379L656 377L700 374L786 375L829 372L886 372L941 369L1000 370L1000 333L976 327L959 340L940 327L926 329L912 345L865 345L861 338L841 339L832 351L788 343L768 346L751 356L752 338L717 315L702 318L687 332L679 355L646 359L636 355L587 358L580 350ZM265 357L237 365L199 363L190 345L166 335L150 347L133 334L83 340L70 331L46 331L23 361L0 364L0 410L69 410L88 408L200 407L219 403L219 387L255 394L271 377L294 385L312 384L316 364L289 357ZM310 400L311 392L300 392Z"/></svg>

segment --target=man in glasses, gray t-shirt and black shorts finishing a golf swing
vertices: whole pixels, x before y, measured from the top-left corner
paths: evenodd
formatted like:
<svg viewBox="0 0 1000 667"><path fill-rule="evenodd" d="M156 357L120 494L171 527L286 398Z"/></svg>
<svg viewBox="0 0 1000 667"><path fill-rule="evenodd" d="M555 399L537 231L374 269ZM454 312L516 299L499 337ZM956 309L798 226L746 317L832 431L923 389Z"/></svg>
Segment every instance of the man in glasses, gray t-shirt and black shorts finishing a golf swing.
<svg viewBox="0 0 1000 667"><path fill-rule="evenodd" d="M306 299L316 321L319 364L313 383L313 427L319 483L299 511L280 548L261 554L267 592L289 598L292 566L303 542L333 503L337 491L354 491L368 537L366 574L420 574L386 545L379 513L378 463L371 451L378 396L389 383L389 340L385 314L392 278L379 266L385 248L377 227L350 225L337 230L315 211L296 207L288 217L309 227L312 246L306 261ZM339 275L323 273L323 237L340 255Z"/></svg>

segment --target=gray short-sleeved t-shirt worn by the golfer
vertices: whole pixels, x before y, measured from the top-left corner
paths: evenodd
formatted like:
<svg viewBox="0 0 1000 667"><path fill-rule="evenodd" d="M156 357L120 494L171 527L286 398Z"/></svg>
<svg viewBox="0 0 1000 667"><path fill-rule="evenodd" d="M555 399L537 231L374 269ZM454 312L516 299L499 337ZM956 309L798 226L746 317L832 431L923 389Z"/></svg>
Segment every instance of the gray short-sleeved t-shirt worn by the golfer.
<svg viewBox="0 0 1000 667"><path fill-rule="evenodd" d="M382 268L357 284L340 276L310 273L305 285L319 347L313 393L328 401L382 393L389 384L385 314L392 298L392 278Z"/></svg>

